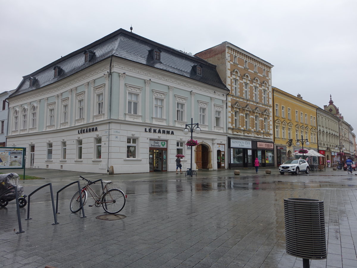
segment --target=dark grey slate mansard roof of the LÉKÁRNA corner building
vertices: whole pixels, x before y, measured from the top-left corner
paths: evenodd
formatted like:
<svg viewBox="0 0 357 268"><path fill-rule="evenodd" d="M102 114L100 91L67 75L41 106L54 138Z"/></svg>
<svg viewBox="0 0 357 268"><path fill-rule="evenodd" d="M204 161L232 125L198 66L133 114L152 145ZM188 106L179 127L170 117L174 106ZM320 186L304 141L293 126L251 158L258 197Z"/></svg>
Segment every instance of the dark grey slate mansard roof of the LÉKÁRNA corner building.
<svg viewBox="0 0 357 268"><path fill-rule="evenodd" d="M150 55L150 50L154 49L161 51L160 61L154 60ZM93 58L88 62L85 62L83 54L85 50L95 52ZM23 76L20 85L10 97L55 83L112 55L182 75L211 86L225 89L227 93L229 92L216 71L216 65L208 63L197 56L189 55L124 29L119 29L84 48L76 50L44 66L34 73ZM198 64L202 67L202 76L197 75L194 71L195 68L192 68ZM56 77L54 77L55 66L61 68L59 75ZM33 80L32 86L30 86L29 83L30 77L36 78L36 80Z"/></svg>

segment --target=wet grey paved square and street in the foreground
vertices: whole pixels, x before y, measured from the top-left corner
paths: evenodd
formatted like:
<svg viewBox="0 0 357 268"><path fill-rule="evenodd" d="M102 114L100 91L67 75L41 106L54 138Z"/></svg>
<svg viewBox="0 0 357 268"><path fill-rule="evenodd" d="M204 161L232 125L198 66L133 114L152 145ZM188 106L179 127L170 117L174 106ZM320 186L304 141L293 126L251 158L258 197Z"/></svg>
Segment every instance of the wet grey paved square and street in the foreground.
<svg viewBox="0 0 357 268"><path fill-rule="evenodd" d="M45 179L22 183L25 193L50 181L55 198L79 174L26 170L36 172ZM90 202L86 218L71 213L74 186L59 195L59 224L52 225L50 190L41 189L31 197L32 219L24 220L28 206L20 209L24 233L15 233L14 201L0 208L0 267L303 267L285 252L283 198L292 197L324 201L327 260L311 260L310 267L357 267L357 176L275 172L83 175L124 181L128 198L119 214L126 218L112 221L96 219L104 210Z"/></svg>

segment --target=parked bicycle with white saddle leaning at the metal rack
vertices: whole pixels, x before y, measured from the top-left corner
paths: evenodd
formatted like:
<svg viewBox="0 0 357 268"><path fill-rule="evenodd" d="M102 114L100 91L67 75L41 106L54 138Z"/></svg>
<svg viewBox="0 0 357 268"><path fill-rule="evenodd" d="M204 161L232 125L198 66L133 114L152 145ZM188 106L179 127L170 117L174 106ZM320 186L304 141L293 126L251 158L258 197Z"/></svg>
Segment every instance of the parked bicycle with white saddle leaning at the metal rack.
<svg viewBox="0 0 357 268"><path fill-rule="evenodd" d="M90 180L87 180L86 178L81 177L82 180L87 181L87 184L81 189L81 196L82 196L82 203L83 205L85 205L86 201L87 201L87 191L91 194L92 198L94 199L94 205L96 207L100 207L103 206L104 210L107 213L110 214L115 214L120 212L120 210L122 210L125 206L125 199L127 197L126 194L124 194L124 192L120 189L117 188L111 188L108 189L107 185L111 184L112 181L111 180L102 180L103 183L105 183L105 187L101 193L100 196L98 196L94 190L90 187L91 184L95 184L95 182L91 182ZM118 187L120 188L120 187ZM89 205L89 207L92 207L93 205ZM81 205L81 199L80 199L80 194L79 191L77 191L72 199L71 199L71 203L70 203L70 209L71 212L76 213L79 212L79 210L82 209L82 205Z"/></svg>

